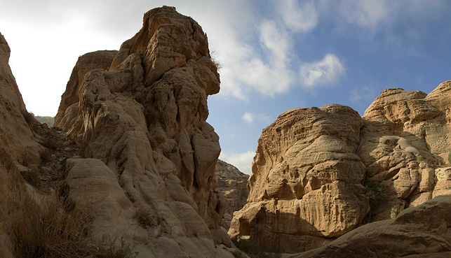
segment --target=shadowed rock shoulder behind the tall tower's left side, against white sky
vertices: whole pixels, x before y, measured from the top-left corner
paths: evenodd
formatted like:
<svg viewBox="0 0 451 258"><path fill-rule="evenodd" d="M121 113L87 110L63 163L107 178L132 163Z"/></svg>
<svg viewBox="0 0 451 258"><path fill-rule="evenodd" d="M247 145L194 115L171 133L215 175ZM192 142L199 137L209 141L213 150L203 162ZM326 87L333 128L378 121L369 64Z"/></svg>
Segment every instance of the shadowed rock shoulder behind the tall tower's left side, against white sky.
<svg viewBox="0 0 451 258"><path fill-rule="evenodd" d="M79 57L74 69L72 69L66 90L61 96L60 107L55 116L55 126L64 125L67 128L72 126L74 123L72 120L76 118L78 113L77 107L80 99L80 89L86 73L94 69L108 70L117 53L118 51L116 50L100 50ZM74 112L74 109L76 112ZM64 121L62 121L63 117L65 117Z"/></svg>

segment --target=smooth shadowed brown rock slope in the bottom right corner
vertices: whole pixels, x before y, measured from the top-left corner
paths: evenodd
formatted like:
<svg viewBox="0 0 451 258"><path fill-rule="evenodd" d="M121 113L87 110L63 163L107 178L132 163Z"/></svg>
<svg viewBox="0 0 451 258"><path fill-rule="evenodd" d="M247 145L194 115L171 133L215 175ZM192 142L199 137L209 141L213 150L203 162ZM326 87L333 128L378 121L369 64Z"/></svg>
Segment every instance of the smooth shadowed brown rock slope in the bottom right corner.
<svg viewBox="0 0 451 258"><path fill-rule="evenodd" d="M304 257L450 257L451 196L401 211L392 220L358 227Z"/></svg>

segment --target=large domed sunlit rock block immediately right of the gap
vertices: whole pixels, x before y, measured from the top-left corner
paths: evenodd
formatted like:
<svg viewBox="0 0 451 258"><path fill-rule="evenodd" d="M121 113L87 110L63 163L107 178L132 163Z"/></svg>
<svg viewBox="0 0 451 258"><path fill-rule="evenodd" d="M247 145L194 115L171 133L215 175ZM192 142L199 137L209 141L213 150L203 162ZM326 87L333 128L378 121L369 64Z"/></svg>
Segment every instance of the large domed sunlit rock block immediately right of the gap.
<svg viewBox="0 0 451 258"><path fill-rule="evenodd" d="M354 229L369 209L355 153L362 124L336 104L280 115L259 139L248 204L229 235L299 252Z"/></svg>

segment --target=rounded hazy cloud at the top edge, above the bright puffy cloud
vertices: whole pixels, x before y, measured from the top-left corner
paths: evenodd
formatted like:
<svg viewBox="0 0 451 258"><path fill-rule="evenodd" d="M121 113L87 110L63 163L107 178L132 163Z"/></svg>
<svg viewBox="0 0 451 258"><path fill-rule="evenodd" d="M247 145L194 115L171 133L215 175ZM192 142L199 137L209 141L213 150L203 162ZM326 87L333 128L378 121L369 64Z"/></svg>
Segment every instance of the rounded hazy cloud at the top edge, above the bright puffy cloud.
<svg viewBox="0 0 451 258"><path fill-rule="evenodd" d="M311 1L288 0L276 6L279 15L288 29L294 32L311 31L318 24L318 13Z"/></svg>

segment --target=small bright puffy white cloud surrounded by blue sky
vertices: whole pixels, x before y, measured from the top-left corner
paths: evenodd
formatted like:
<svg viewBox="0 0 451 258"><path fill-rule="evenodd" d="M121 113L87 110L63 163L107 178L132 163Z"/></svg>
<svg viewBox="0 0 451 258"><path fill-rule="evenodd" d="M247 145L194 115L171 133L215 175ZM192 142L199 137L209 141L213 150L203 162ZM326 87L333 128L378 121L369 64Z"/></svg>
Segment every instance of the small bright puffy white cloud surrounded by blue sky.
<svg viewBox="0 0 451 258"><path fill-rule="evenodd" d="M337 83L346 68L336 55L327 54L316 62L303 64L300 69L302 84L306 87L331 85Z"/></svg>

